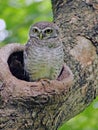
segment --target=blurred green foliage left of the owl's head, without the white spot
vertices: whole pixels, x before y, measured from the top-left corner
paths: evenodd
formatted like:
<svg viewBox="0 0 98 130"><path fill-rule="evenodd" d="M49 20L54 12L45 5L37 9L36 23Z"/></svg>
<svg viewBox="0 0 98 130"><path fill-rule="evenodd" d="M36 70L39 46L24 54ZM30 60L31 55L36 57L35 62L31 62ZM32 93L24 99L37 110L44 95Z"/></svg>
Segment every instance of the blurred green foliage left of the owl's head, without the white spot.
<svg viewBox="0 0 98 130"><path fill-rule="evenodd" d="M0 45L26 43L31 24L52 21L50 0L0 0L0 19L5 20L7 37Z"/></svg>

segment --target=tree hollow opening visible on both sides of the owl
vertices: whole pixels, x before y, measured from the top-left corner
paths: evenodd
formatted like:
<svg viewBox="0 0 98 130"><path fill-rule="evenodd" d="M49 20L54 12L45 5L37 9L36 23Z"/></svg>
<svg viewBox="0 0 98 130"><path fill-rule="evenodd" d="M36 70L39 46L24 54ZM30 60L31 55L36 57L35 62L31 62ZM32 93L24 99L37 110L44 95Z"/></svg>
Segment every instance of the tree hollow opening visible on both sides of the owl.
<svg viewBox="0 0 98 130"><path fill-rule="evenodd" d="M24 70L23 51L12 53L7 62L12 75L18 79L29 81L29 76ZM63 80L64 78L69 77L69 75L68 69L63 66L57 80Z"/></svg>

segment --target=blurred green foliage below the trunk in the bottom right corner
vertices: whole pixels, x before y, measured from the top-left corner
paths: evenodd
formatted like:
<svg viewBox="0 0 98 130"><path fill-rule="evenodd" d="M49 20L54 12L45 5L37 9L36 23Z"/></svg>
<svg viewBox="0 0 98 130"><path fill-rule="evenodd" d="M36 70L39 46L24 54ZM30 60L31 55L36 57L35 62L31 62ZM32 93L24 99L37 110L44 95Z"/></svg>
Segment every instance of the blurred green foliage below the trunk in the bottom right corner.
<svg viewBox="0 0 98 130"><path fill-rule="evenodd" d="M98 130L98 98L85 111L69 120L59 130Z"/></svg>

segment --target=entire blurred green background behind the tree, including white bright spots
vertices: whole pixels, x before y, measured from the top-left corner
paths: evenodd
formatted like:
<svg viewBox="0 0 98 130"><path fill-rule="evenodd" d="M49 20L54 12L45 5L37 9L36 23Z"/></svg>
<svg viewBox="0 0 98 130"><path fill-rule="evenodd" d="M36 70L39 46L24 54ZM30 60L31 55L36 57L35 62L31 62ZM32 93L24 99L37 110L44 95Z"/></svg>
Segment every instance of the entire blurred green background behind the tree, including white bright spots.
<svg viewBox="0 0 98 130"><path fill-rule="evenodd" d="M25 44L31 24L52 20L50 0L0 0L0 47ZM98 130L98 98L59 130Z"/></svg>

